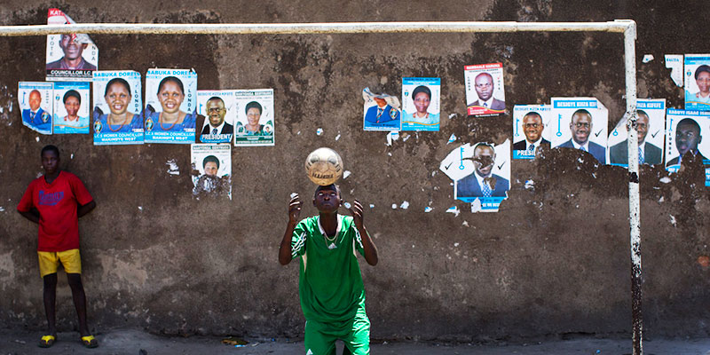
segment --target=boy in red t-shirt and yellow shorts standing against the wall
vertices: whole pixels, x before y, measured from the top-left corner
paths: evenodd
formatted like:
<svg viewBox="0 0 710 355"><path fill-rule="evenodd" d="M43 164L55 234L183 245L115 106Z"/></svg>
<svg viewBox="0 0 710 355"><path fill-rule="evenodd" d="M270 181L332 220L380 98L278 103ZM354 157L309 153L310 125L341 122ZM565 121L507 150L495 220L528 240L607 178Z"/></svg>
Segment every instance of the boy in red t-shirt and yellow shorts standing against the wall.
<svg viewBox="0 0 710 355"><path fill-rule="evenodd" d="M44 280L44 312L47 315L47 335L40 347L49 348L57 340L55 299L57 296L57 268L59 263L67 272L72 289L79 333L84 346L95 348L99 342L86 325L86 296L82 284L82 261L79 256L79 217L91 212L96 202L79 177L59 170L59 149L42 148L44 175L33 180L22 195L18 212L39 225L39 272Z"/></svg>

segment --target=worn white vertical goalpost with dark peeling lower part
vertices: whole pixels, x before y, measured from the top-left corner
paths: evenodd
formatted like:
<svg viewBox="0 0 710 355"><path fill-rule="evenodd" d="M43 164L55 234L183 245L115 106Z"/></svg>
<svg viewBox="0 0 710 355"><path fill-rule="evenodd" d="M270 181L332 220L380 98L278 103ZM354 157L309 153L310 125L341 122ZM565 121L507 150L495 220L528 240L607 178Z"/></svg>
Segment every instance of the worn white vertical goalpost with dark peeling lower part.
<svg viewBox="0 0 710 355"><path fill-rule="evenodd" d="M628 21L624 31L624 64L627 82L628 124L628 222L631 242L631 318L633 355L643 354L643 316L641 312L641 201L639 198L638 128L636 127L636 24Z"/></svg>

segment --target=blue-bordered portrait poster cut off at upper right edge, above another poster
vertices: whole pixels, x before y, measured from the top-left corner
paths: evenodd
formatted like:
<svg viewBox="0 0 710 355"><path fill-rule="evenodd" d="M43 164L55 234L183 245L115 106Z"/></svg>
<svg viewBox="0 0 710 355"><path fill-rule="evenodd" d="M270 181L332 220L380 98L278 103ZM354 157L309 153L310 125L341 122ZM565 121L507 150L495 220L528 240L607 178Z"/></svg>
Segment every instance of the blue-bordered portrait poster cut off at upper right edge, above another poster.
<svg viewBox="0 0 710 355"><path fill-rule="evenodd" d="M710 54L686 54L685 109L710 110Z"/></svg>

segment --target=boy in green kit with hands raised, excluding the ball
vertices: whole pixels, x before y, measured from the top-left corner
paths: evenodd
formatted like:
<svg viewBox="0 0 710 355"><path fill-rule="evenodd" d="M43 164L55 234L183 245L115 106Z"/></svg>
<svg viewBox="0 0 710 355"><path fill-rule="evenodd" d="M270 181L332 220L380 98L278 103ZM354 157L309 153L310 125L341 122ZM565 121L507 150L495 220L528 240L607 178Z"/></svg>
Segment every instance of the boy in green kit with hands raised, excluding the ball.
<svg viewBox="0 0 710 355"><path fill-rule="evenodd" d="M370 320L365 312L365 287L356 250L367 264L377 264L377 248L363 223L363 209L354 201L352 217L338 214L340 188L318 186L313 206L319 215L298 221L303 202L288 204L288 226L279 248L280 264L299 259L298 294L305 322L305 353L334 355L335 341L343 354L370 353Z"/></svg>

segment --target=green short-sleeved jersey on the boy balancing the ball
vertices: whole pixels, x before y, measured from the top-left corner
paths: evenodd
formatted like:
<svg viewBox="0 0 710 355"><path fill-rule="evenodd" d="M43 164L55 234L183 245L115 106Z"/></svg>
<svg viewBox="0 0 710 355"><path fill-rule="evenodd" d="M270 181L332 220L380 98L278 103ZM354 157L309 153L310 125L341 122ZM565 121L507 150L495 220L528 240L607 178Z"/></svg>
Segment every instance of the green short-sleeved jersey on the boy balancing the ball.
<svg viewBox="0 0 710 355"><path fill-rule="evenodd" d="M327 237L319 216L296 225L291 257L301 256L298 296L306 320L335 322L353 319L365 309L365 287L355 251L365 255L352 217L338 215L335 237Z"/></svg>

